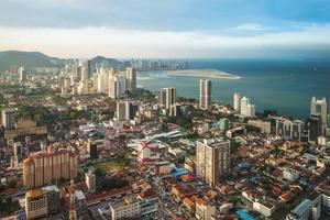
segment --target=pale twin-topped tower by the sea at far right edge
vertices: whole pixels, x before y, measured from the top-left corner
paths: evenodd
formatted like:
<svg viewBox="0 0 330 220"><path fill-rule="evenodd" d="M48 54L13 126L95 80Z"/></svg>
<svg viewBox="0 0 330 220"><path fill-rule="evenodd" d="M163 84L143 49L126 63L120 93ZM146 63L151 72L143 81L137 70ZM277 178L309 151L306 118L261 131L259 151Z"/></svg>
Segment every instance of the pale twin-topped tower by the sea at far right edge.
<svg viewBox="0 0 330 220"><path fill-rule="evenodd" d="M316 97L312 97L310 101L310 114L321 117L322 134L324 134L327 128L327 99L316 99Z"/></svg>

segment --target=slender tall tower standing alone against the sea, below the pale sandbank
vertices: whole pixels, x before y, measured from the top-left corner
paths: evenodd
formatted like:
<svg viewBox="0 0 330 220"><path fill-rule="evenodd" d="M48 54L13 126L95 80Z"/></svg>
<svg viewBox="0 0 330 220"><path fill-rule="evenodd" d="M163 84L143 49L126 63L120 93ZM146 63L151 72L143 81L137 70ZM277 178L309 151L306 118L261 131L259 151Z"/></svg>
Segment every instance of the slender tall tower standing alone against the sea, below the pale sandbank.
<svg viewBox="0 0 330 220"><path fill-rule="evenodd" d="M209 79L199 81L199 108L209 109L212 105L212 82Z"/></svg>

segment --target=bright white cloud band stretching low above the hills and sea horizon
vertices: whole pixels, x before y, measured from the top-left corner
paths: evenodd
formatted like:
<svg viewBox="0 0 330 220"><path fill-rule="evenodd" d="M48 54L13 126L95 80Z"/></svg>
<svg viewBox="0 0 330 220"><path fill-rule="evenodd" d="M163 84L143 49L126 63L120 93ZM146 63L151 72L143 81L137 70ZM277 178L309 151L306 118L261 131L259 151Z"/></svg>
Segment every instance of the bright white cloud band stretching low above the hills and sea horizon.
<svg viewBox="0 0 330 220"><path fill-rule="evenodd" d="M245 25L246 28L246 25ZM249 28L249 25L248 25ZM316 48L330 44L330 25L310 25L296 32L232 36L204 31L172 32L112 28L0 28L0 48L40 51L59 57L227 57L240 51L288 47ZM250 29L258 29L257 25Z"/></svg>

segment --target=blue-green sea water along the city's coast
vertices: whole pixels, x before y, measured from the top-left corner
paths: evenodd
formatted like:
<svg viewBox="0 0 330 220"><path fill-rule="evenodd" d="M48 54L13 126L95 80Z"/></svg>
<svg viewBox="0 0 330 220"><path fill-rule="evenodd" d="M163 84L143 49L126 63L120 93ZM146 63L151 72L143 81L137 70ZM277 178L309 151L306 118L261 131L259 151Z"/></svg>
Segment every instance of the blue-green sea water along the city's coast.
<svg viewBox="0 0 330 220"><path fill-rule="evenodd" d="M189 61L189 67L219 69L241 76L241 79L211 78L212 100L219 103L232 103L233 94L240 92L251 99L256 111L273 109L280 114L300 119L308 117L312 96L326 97L330 103L330 59L193 59ZM166 72L138 75L138 84L146 89L175 87L178 96L188 98L199 97L199 79L167 76Z"/></svg>

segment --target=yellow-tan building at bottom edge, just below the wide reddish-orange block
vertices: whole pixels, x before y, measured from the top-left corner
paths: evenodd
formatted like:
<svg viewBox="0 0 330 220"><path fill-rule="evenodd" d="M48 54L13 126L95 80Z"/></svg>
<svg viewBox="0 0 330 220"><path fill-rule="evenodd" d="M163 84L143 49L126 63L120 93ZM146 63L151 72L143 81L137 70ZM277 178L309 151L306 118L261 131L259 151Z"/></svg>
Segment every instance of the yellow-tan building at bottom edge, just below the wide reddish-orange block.
<svg viewBox="0 0 330 220"><path fill-rule="evenodd" d="M47 216L46 191L32 189L25 194L26 219L37 219Z"/></svg>

